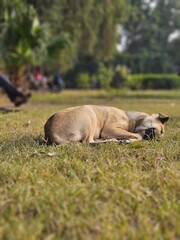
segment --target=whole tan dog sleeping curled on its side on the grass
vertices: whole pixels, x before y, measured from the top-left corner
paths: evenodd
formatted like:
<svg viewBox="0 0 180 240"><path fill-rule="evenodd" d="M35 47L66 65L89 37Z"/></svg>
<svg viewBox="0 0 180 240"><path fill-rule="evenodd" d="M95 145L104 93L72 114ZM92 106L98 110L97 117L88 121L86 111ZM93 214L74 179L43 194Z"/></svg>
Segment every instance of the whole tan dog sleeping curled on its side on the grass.
<svg viewBox="0 0 180 240"><path fill-rule="evenodd" d="M52 115L44 126L49 143L134 142L164 133L165 114L148 115L115 107L84 105Z"/></svg>

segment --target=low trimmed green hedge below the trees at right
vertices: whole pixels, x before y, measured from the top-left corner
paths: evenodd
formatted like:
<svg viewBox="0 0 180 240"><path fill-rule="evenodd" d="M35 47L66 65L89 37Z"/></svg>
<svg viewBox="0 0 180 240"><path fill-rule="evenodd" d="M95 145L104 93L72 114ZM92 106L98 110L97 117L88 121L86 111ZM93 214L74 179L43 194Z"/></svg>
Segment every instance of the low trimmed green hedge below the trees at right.
<svg viewBox="0 0 180 240"><path fill-rule="evenodd" d="M180 76L176 74L135 74L127 79L127 87L138 89L177 89Z"/></svg>

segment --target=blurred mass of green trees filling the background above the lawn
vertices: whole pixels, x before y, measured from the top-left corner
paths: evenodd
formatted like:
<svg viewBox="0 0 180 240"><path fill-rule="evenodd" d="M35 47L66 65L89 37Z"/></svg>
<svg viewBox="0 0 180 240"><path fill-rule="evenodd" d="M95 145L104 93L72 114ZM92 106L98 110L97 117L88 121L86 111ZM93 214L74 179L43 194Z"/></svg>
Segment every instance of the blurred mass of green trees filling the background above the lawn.
<svg viewBox="0 0 180 240"><path fill-rule="evenodd" d="M117 65L132 74L180 71L178 0L0 0L0 13L0 65L16 78L41 65L60 70L66 87L86 75L87 87L103 64L114 75L100 85L121 87Z"/></svg>

